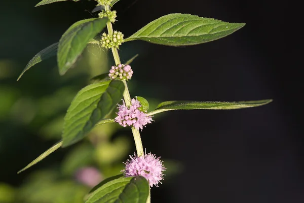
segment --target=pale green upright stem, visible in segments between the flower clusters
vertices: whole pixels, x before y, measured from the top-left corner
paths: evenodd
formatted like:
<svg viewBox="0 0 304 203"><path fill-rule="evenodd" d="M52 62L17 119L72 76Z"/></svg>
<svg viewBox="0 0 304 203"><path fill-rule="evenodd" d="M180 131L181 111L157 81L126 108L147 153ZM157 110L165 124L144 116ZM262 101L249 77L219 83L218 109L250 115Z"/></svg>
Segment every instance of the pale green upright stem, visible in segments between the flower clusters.
<svg viewBox="0 0 304 203"><path fill-rule="evenodd" d="M105 9L105 11L109 11L109 6L105 6L104 9ZM109 35L113 35L112 23L107 22L106 26L107 26L107 30L108 30ZM112 48L112 54L113 54L116 65L120 64L121 61L120 61L120 57L119 57L119 54L118 54L118 49L113 47ZM129 107L129 106L131 106L131 96L130 96L130 92L129 92L126 80L123 80L123 82L124 82L124 85L125 85L125 91L123 93L123 96L124 96L126 105ZM135 141L137 156L143 156L144 153L143 153L143 147L142 147L142 142L141 142L139 130L132 127L132 133L133 133L133 137L134 137L134 141ZM150 195L151 194L150 194L150 188L149 188L149 196L147 198L146 203L151 202Z"/></svg>

